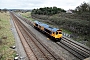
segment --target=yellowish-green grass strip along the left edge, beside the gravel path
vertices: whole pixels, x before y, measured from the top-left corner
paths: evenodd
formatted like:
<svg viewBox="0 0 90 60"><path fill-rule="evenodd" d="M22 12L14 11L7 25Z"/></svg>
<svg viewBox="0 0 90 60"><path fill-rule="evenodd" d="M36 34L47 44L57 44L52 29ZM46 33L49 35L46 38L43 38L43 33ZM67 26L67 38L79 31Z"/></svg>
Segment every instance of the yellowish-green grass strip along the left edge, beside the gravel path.
<svg viewBox="0 0 90 60"><path fill-rule="evenodd" d="M13 34L11 32L10 16L9 13L0 13L0 60L13 60L15 51L10 48L15 44ZM6 38L4 38L6 37Z"/></svg>

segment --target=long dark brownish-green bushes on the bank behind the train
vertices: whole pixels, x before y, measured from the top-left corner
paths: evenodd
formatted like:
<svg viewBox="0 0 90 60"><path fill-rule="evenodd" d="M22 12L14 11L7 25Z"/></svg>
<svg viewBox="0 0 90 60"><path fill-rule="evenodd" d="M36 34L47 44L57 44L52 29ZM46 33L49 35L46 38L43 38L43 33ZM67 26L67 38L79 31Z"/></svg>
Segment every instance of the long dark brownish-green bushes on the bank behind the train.
<svg viewBox="0 0 90 60"><path fill-rule="evenodd" d="M67 16L66 15L67 14L61 14L61 15L59 15L61 17L59 17L57 15L46 16L46 15L35 15L34 14L32 16L35 18L38 18L38 19L45 20L45 21L50 21L51 24L56 24L64 29L70 30L74 33L83 34L83 35L90 34L89 22L87 20L82 20L80 18L76 19L76 17L73 17L73 19L72 19L71 17L68 17L69 14Z"/></svg>

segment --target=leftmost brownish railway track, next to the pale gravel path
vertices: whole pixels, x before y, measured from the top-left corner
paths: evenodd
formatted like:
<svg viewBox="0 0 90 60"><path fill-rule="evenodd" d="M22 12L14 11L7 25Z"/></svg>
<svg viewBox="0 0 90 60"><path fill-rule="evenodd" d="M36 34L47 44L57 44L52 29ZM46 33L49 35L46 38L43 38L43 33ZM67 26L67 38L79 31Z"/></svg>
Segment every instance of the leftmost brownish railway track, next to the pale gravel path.
<svg viewBox="0 0 90 60"><path fill-rule="evenodd" d="M31 48L28 46L27 42L25 41L25 38L23 37L22 33L20 32L19 26L15 22L16 18L15 18L15 16L12 13L11 13L11 18L12 18L12 20L14 22L14 25L16 27L17 33L18 33L18 35L20 37L20 40L21 40L22 45L24 47L24 50L25 50L25 52L26 52L26 54L28 56L28 59L29 60L33 60L33 59L36 60L35 55L32 53Z"/></svg>

